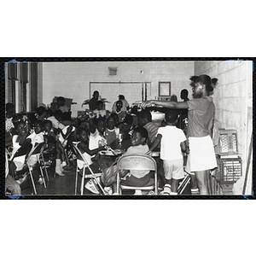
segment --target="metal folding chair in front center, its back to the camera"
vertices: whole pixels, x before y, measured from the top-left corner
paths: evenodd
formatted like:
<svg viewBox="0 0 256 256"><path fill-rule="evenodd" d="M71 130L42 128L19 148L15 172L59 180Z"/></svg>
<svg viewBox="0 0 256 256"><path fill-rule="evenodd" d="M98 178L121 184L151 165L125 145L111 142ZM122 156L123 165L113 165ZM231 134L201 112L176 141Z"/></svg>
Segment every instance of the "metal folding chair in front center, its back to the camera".
<svg viewBox="0 0 256 256"><path fill-rule="evenodd" d="M142 190L154 190L154 194L157 195L157 167L156 162L153 157L147 154L124 154L122 155L117 162L117 191L119 193L119 189L131 189L135 190L134 195L142 195ZM119 177L119 171L125 170L142 170L142 171L150 171L154 172L154 181L150 180L150 183L144 187L131 187L122 184L122 181ZM119 184L120 183L120 184Z"/></svg>

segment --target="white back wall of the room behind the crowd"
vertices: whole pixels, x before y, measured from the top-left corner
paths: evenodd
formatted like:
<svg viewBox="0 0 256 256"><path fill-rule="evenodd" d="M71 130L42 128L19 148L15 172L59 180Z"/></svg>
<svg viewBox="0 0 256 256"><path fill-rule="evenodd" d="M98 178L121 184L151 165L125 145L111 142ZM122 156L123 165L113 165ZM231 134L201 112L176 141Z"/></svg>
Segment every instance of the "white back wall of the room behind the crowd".
<svg viewBox="0 0 256 256"><path fill-rule="evenodd" d="M109 76L108 67L118 67L118 75ZM44 104L52 102L55 96L72 98L78 103L72 106L75 116L78 110L85 109L81 108L84 100L91 97L90 82L152 82L148 99L154 99L158 96L158 83L171 81L171 93L180 100L183 88L190 91L189 77L194 75L194 61L44 62L42 73ZM101 96L107 99L112 93L100 91Z"/></svg>

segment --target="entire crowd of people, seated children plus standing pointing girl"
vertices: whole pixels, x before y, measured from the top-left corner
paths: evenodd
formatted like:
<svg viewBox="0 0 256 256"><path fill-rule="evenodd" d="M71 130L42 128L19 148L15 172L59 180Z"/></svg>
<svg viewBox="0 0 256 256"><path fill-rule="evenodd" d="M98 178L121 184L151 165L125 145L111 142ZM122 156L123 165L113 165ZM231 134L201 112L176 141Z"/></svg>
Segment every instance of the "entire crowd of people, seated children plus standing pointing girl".
<svg viewBox="0 0 256 256"><path fill-rule="evenodd" d="M119 100L113 103L112 112L108 112L99 100L99 92L94 91L90 101L85 102L89 104L90 111L75 119L71 118L63 97L57 99L55 111L40 106L36 113L26 116L15 114L15 106L7 103L5 143L8 155L6 166L9 168L6 168L6 188L14 195L21 194L20 188L27 179L26 173L22 172L26 154L40 143L47 145L46 152L55 156L55 174L65 176L66 172L70 172L67 171L65 150L76 142L91 170L102 172L102 187L111 191L111 195L117 195L116 159L109 160L98 154L121 135L131 140L131 146L121 154L152 155L156 148L160 150L160 157L155 159L160 194L177 195L178 183L184 177L186 166L185 171L191 177L191 191L210 195L210 171L217 167L217 163L212 144L215 110L209 95L217 79L201 75L190 80L192 100L188 98L188 90L182 90L183 102L177 102L177 96L172 96L171 101L143 102L140 109L130 108L125 96L120 95ZM149 111L152 106L166 109L162 122L152 120ZM17 156L20 148L25 148L26 154ZM37 157L30 158L30 166L35 165L37 160ZM77 165L81 167L83 163L78 160ZM113 169L111 181L105 173L109 166ZM120 177L124 184L145 186L152 174L148 171L120 172ZM39 184L43 183L40 172L35 179ZM85 189L100 194L92 180L85 183Z"/></svg>

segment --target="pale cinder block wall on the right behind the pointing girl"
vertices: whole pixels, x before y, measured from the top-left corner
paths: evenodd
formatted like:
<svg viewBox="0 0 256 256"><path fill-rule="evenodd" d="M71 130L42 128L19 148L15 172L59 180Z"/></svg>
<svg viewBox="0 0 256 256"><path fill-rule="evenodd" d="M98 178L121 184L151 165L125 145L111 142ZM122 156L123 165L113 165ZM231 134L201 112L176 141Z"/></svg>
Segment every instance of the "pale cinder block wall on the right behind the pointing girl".
<svg viewBox="0 0 256 256"><path fill-rule="evenodd" d="M207 74L218 79L213 100L216 107L215 118L220 127L236 129L238 152L242 159L243 176L234 185L233 193L241 194L247 168L247 154L252 134L253 81L252 61L195 61L195 75ZM252 193L251 173L246 194Z"/></svg>

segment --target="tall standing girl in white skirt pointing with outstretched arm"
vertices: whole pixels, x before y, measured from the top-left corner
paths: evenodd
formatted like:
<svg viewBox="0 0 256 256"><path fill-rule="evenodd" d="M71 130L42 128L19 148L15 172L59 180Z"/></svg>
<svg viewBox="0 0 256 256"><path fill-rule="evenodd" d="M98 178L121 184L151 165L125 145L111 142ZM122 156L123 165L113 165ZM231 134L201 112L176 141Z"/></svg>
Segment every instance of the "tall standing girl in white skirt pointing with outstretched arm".
<svg viewBox="0 0 256 256"><path fill-rule="evenodd" d="M189 155L190 172L195 172L197 185L201 195L210 195L210 170L217 167L212 143L212 127L215 106L212 97L212 84L218 79L211 79L203 74L190 78L194 99L188 102L148 101L142 108L160 105L165 108L188 108L189 110Z"/></svg>

